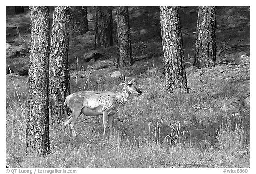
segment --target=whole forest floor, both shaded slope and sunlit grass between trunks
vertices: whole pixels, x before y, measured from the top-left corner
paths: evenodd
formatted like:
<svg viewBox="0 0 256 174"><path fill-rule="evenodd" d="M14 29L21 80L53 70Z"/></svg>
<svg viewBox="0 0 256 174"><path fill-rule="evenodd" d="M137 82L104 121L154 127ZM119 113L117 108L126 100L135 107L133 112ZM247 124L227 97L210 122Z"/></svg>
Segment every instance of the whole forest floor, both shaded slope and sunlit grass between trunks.
<svg viewBox="0 0 256 174"><path fill-rule="evenodd" d="M8 8L8 7L7 7ZM72 33L69 47L71 93L80 90L119 92L122 77L136 76L141 96L132 96L114 118L114 138L101 141L101 116L77 121L61 141L60 126L50 125L51 154L24 156L30 13L6 15L6 165L12 168L248 168L250 166L249 7L217 7L216 55L213 68L186 69L190 93L164 91L163 53L158 7L129 7L135 64L116 68L117 47L97 50L96 62L86 62L94 46L94 14L89 28ZM52 12L52 9L51 9ZM51 17L51 16L50 16ZM193 57L197 9L180 8L185 62ZM115 25L113 25L115 26ZM115 27L114 27L115 36ZM114 37L115 38L115 37ZM68 116L67 116L68 117ZM108 137L108 135L107 135Z"/></svg>

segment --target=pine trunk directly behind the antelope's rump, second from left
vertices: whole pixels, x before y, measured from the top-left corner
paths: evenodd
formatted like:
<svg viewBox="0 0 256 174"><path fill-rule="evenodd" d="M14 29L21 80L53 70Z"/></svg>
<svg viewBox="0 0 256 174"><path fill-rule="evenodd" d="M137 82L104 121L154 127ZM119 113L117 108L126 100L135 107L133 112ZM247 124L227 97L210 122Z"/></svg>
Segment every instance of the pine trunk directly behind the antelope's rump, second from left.
<svg viewBox="0 0 256 174"><path fill-rule="evenodd" d="M52 125L67 116L65 98L70 94L68 73L69 6L56 6L53 13L49 72L49 108Z"/></svg>

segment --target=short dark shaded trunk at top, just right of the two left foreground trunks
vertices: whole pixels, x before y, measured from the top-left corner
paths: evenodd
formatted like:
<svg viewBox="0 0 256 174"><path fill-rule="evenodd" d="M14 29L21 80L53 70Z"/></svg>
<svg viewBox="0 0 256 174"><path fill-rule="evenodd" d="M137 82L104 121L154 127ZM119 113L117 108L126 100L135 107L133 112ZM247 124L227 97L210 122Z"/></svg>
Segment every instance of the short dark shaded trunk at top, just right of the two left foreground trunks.
<svg viewBox="0 0 256 174"><path fill-rule="evenodd" d="M76 25L75 31L80 35L89 31L88 19L87 19L87 7L86 6L72 6L74 24Z"/></svg>

